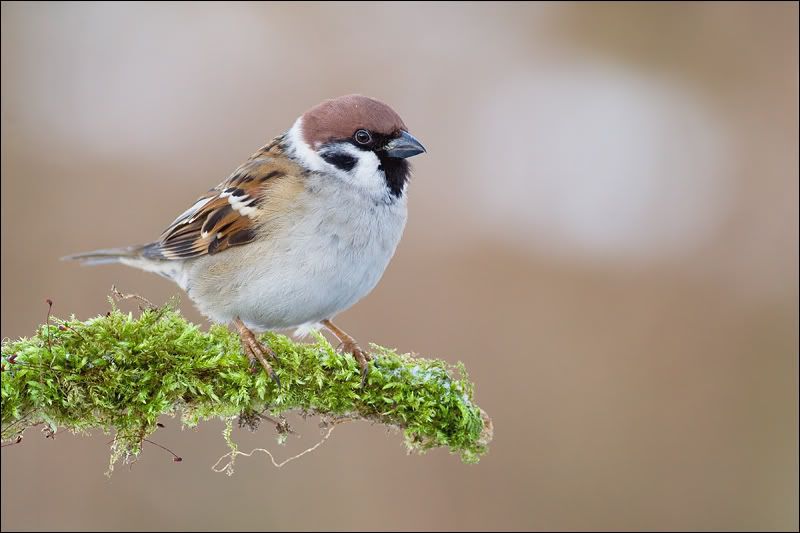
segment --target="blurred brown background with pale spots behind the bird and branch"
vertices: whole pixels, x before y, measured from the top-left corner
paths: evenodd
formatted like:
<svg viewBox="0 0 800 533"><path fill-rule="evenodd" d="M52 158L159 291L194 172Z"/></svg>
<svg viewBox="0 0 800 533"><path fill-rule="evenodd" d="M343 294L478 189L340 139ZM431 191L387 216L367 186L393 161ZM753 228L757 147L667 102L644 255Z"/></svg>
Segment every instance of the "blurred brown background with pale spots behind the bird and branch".
<svg viewBox="0 0 800 533"><path fill-rule="evenodd" d="M3 3L2 336L45 298L181 294L58 258L156 238L351 92L428 154L340 325L463 361L490 453L360 423L229 478L221 422L165 419L183 462L107 479L109 436L33 430L2 451L2 529L798 528L796 3ZM319 439L296 427L234 438L280 460Z"/></svg>

